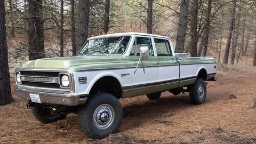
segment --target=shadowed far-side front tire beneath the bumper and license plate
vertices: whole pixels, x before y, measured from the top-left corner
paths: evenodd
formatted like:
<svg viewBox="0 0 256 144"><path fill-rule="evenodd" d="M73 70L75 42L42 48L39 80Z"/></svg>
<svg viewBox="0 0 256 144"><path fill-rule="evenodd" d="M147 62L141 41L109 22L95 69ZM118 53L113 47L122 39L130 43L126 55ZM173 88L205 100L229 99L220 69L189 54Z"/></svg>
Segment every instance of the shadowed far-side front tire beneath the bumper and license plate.
<svg viewBox="0 0 256 144"><path fill-rule="evenodd" d="M51 107L31 107L31 113L33 116L42 123L52 123L57 122L67 116L61 112L53 112Z"/></svg>

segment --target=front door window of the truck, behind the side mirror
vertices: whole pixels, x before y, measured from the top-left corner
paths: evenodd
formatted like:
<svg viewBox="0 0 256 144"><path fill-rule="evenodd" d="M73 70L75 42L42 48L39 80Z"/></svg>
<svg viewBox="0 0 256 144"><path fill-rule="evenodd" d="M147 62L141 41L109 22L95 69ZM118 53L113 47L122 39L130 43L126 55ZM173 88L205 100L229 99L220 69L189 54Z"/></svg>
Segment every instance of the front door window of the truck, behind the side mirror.
<svg viewBox="0 0 256 144"><path fill-rule="evenodd" d="M140 47L148 46L149 48L149 56L154 57L153 45L150 37L136 37L135 41L132 45L132 50L130 56L139 56L140 55Z"/></svg>

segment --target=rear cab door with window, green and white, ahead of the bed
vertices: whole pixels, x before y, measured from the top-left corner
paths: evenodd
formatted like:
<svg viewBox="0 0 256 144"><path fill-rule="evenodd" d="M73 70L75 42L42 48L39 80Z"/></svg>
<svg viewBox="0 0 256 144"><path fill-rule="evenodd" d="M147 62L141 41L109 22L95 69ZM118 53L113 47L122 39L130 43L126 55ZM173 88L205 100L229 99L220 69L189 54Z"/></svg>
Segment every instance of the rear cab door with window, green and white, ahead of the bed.
<svg viewBox="0 0 256 144"><path fill-rule="evenodd" d="M162 82L158 89L161 91L174 89L179 84L180 69L171 42L167 38L154 37L154 46L159 63L159 81Z"/></svg>

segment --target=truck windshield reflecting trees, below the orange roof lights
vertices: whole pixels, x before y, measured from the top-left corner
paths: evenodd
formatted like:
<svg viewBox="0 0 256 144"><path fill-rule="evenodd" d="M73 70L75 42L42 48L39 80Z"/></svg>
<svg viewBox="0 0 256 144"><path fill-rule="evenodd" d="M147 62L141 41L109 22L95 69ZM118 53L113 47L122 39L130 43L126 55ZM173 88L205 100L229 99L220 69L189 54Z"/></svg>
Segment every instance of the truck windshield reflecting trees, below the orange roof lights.
<svg viewBox="0 0 256 144"><path fill-rule="evenodd" d="M129 41L130 36L91 39L85 42L77 55L123 54Z"/></svg>

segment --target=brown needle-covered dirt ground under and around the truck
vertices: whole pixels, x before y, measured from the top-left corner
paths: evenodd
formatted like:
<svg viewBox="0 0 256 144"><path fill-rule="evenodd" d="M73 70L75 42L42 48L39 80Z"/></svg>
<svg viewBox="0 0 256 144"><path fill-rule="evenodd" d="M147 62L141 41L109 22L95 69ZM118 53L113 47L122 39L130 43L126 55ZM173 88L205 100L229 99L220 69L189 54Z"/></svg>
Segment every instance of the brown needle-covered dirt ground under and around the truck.
<svg viewBox="0 0 256 144"><path fill-rule="evenodd" d="M255 79L256 67L249 65L219 70L203 105L191 105L188 93L122 99L121 127L103 140L86 137L75 114L39 123L13 92L15 101L0 107L0 143L256 143Z"/></svg>

